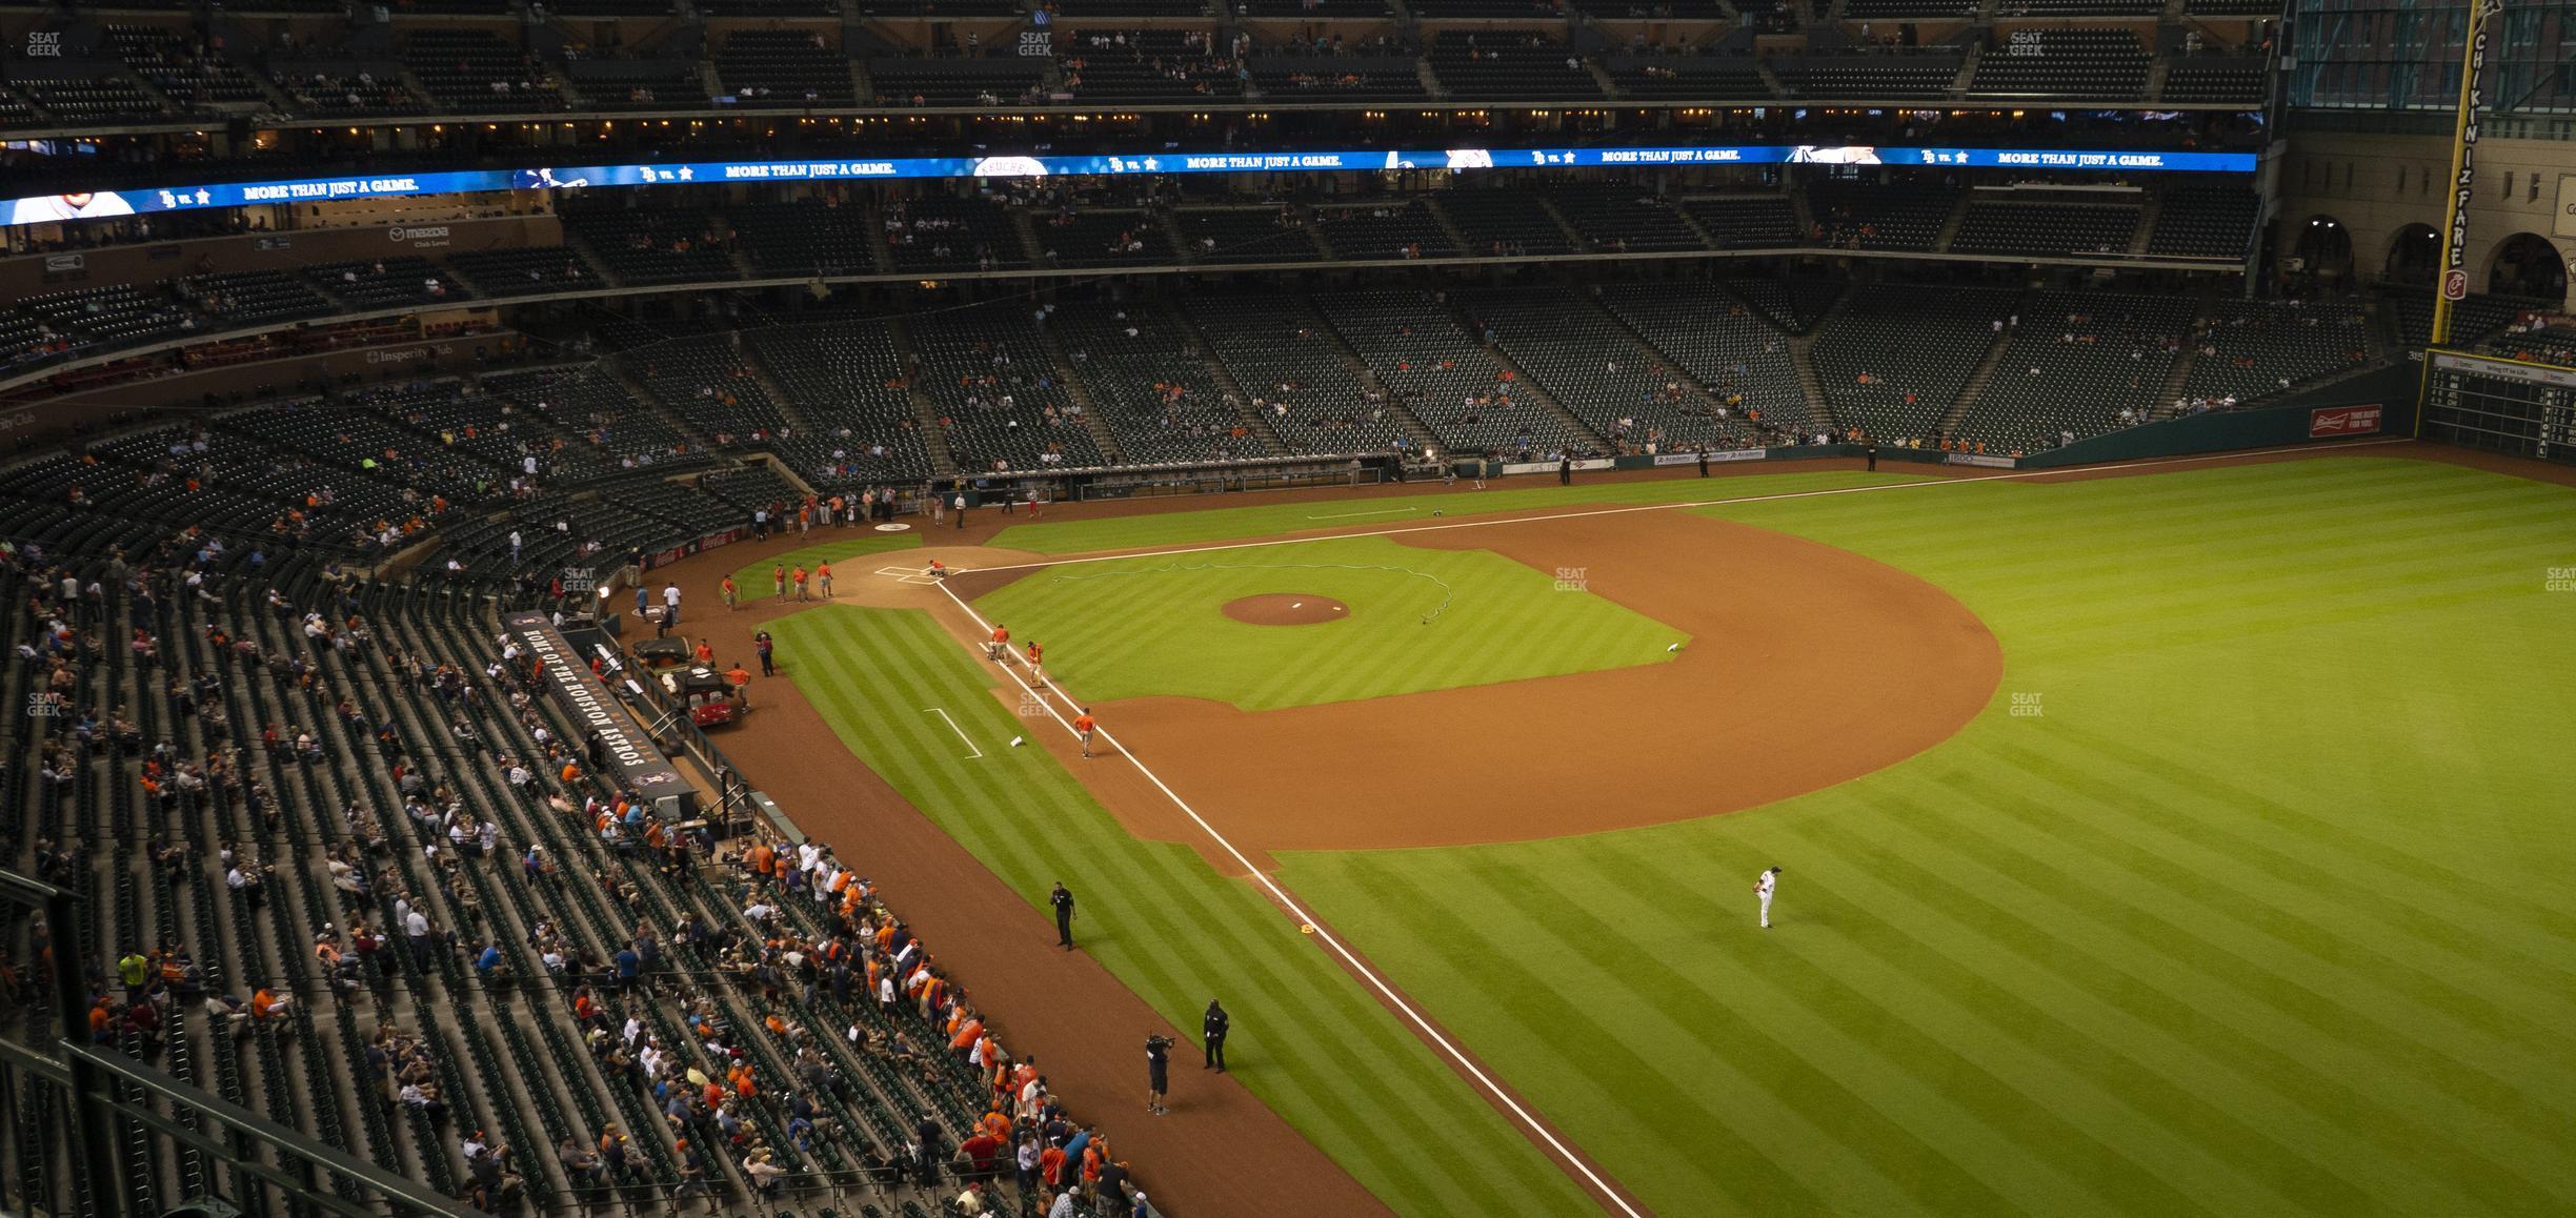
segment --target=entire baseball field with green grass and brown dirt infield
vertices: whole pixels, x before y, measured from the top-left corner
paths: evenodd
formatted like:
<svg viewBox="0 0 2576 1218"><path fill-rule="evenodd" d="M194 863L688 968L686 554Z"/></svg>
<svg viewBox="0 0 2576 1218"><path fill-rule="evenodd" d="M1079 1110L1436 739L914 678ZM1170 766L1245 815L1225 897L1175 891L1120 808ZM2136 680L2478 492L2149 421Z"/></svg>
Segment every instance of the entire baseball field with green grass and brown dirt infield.
<svg viewBox="0 0 2576 1218"><path fill-rule="evenodd" d="M1260 1213L2576 1210L2576 489L2352 451L799 546L840 603L757 613L793 706L726 749L842 855L971 855L951 927L1051 945L1064 881L1185 1043L1224 997L1249 1100L1092 1107L1175 1159L1193 1102L1285 1120Z"/></svg>

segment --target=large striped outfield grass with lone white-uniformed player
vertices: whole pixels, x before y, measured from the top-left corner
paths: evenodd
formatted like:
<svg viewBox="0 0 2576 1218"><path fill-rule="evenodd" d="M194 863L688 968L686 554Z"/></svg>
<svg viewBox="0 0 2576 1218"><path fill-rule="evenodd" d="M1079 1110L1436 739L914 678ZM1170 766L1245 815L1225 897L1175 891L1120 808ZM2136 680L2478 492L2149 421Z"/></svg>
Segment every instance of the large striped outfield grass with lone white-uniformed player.
<svg viewBox="0 0 2576 1218"><path fill-rule="evenodd" d="M2329 458L1708 512L1950 590L1994 706L1770 809L1280 873L1649 1205L2576 1213L2576 492Z"/></svg>

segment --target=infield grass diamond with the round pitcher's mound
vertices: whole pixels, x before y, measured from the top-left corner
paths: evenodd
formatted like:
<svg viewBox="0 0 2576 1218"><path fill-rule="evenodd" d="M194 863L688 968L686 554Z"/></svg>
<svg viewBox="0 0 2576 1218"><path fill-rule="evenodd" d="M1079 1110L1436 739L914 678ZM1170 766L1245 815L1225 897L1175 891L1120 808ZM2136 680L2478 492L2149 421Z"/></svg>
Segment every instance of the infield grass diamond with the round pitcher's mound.
<svg viewBox="0 0 2576 1218"><path fill-rule="evenodd" d="M1321 595L1340 621L1249 626L1229 600ZM1092 700L1182 695L1244 711L1662 664L1690 636L1494 551L1386 538L1041 569L976 600ZM1425 618L1430 628L1425 628Z"/></svg>

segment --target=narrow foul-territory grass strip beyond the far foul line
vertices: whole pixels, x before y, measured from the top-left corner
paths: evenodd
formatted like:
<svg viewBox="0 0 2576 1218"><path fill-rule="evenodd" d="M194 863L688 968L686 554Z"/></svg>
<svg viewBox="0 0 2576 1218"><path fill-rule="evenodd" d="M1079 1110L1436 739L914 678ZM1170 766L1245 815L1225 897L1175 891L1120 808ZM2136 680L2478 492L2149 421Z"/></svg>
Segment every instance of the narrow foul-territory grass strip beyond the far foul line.
<svg viewBox="0 0 2576 1218"><path fill-rule="evenodd" d="M1043 525L1010 525L997 533L992 543L1030 554L1092 554L1141 546L1193 546L1211 541L1267 538L1316 528L1401 528L1427 523L1432 512L1463 518L1476 512L1522 512L1540 507L1579 510L1584 505L1705 502L1932 479L1922 474L1814 471L1649 482L1584 482L1577 474L1571 487L1533 482L1535 479L1520 479L1515 484L1494 482L1481 492L1417 492L1347 502L1260 502L1252 507L1115 515L1100 520L1082 518L1087 505L1066 505L1056 512L1061 520L1048 520ZM768 579L768 569L762 569L762 579Z"/></svg>

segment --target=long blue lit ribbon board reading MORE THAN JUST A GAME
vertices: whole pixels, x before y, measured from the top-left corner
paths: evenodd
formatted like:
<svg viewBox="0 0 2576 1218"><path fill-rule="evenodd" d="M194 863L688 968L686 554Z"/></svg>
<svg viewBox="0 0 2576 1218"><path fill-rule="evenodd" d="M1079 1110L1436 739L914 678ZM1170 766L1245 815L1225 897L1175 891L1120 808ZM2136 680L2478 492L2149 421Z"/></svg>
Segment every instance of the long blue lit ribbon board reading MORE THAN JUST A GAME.
<svg viewBox="0 0 2576 1218"><path fill-rule="evenodd" d="M157 185L82 191L0 201L0 221L134 216L250 203L317 203L335 198L399 198L487 191L595 191L670 183L822 183L868 178L1121 178L1164 173L1378 173L1378 170L1520 170L1623 165L1950 165L2032 167L2066 173L2254 173L2251 152L2089 152L2089 149L1947 149L1947 147L1546 147L1546 149L1409 149L1409 152L1146 152L1133 157L889 157L889 160L752 160L680 165L546 165L526 170L453 170L384 178L286 178L265 183Z"/></svg>

